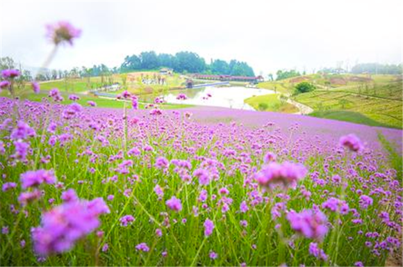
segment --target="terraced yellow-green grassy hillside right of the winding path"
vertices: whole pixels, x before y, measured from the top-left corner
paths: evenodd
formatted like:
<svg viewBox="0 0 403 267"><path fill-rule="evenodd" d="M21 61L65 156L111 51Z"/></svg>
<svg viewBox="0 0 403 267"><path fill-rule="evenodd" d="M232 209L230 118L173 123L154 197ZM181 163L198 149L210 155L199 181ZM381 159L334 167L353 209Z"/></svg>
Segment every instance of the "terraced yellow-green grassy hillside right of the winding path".
<svg viewBox="0 0 403 267"><path fill-rule="evenodd" d="M294 94L297 83L308 81L313 92ZM312 74L267 81L259 88L293 95L314 109L315 117L402 129L402 78L394 75Z"/></svg>

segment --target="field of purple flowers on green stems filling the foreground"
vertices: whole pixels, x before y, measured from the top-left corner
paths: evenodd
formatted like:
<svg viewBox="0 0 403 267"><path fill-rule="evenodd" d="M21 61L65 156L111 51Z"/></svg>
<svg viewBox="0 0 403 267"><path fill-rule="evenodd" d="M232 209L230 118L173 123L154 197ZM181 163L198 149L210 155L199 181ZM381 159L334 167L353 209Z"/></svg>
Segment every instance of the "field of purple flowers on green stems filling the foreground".
<svg viewBox="0 0 403 267"><path fill-rule="evenodd" d="M384 266L402 251L379 143L400 149L400 130L1 98L0 136L2 266Z"/></svg>

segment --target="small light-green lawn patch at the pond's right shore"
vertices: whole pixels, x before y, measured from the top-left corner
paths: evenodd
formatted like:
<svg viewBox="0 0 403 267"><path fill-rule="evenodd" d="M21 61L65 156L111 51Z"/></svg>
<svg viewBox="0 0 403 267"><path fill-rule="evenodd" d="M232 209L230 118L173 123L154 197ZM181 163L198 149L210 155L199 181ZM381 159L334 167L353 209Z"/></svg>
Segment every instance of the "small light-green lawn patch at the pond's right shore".
<svg viewBox="0 0 403 267"><path fill-rule="evenodd" d="M299 111L298 108L288 104L285 100L280 100L278 94L249 97L245 99L245 103L258 111L276 111L282 113L296 113Z"/></svg>

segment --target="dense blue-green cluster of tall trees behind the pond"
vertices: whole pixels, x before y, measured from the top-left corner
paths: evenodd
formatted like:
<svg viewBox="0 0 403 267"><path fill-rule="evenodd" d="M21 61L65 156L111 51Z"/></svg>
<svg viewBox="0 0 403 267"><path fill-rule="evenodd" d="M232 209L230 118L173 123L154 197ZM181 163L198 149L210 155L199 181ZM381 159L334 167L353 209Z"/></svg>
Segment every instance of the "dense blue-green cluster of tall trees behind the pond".
<svg viewBox="0 0 403 267"><path fill-rule="evenodd" d="M120 65L120 72L131 72L135 70L158 70L161 67L168 67L175 72L181 73L203 73L203 74L224 74L235 76L254 76L254 70L245 62L238 60L211 60L207 64L204 58L189 51L181 51L172 54L156 54L155 51L142 52L139 55L126 56Z"/></svg>

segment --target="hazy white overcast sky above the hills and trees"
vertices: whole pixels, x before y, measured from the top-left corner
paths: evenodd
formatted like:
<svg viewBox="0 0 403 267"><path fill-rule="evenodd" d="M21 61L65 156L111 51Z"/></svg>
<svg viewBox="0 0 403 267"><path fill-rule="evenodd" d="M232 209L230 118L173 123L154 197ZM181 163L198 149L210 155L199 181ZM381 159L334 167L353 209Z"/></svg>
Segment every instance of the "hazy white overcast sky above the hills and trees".
<svg viewBox="0 0 403 267"><path fill-rule="evenodd" d="M311 72L338 62L400 63L403 1L18 1L1 0L1 56L39 66L51 51L45 24L83 30L51 68L105 63L154 50L246 61L256 74Z"/></svg>

